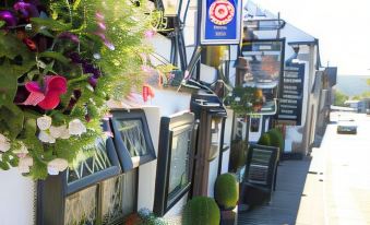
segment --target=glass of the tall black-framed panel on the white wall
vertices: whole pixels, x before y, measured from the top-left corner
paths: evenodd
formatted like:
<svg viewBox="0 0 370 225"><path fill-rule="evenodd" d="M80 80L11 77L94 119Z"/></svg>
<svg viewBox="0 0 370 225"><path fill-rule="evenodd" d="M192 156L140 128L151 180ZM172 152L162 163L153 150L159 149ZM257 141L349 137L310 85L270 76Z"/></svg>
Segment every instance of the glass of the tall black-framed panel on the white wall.
<svg viewBox="0 0 370 225"><path fill-rule="evenodd" d="M189 183L190 137L191 131L187 130L172 138L167 204Z"/></svg>

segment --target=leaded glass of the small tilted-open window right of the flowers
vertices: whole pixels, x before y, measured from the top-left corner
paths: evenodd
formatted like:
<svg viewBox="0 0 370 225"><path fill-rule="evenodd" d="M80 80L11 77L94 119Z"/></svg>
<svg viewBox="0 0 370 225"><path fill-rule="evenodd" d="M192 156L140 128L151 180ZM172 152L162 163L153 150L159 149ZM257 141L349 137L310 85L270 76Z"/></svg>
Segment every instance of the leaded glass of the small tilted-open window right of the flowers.
<svg viewBox="0 0 370 225"><path fill-rule="evenodd" d="M141 120L118 120L118 129L131 157L148 154Z"/></svg>

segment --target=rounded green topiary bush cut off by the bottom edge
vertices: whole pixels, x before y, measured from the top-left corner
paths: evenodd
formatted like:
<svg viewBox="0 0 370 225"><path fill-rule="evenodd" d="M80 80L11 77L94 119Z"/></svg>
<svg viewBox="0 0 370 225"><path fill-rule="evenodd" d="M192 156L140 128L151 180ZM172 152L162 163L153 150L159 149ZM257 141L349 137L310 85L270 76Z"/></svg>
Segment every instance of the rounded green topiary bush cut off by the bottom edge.
<svg viewBox="0 0 370 225"><path fill-rule="evenodd" d="M194 197L182 212L183 225L219 225L219 209L208 197Z"/></svg>

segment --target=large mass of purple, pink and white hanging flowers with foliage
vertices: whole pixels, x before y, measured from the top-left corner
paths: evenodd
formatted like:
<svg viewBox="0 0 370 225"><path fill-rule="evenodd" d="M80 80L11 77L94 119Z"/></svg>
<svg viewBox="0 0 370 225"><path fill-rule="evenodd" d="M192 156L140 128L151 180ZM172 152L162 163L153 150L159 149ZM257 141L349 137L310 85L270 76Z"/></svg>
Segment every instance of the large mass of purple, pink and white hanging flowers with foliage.
<svg viewBox="0 0 370 225"><path fill-rule="evenodd" d="M145 1L0 2L0 169L34 179L68 168L104 135L108 99L141 88Z"/></svg>

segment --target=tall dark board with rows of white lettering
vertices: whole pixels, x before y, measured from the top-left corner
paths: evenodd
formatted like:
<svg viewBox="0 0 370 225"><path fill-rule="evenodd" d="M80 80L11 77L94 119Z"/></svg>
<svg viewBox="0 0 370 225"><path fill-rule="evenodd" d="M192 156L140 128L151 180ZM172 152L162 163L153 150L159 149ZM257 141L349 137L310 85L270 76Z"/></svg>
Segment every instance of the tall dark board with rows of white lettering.
<svg viewBox="0 0 370 225"><path fill-rule="evenodd" d="M284 70L281 85L277 119L301 125L305 86L305 63L289 62Z"/></svg>

